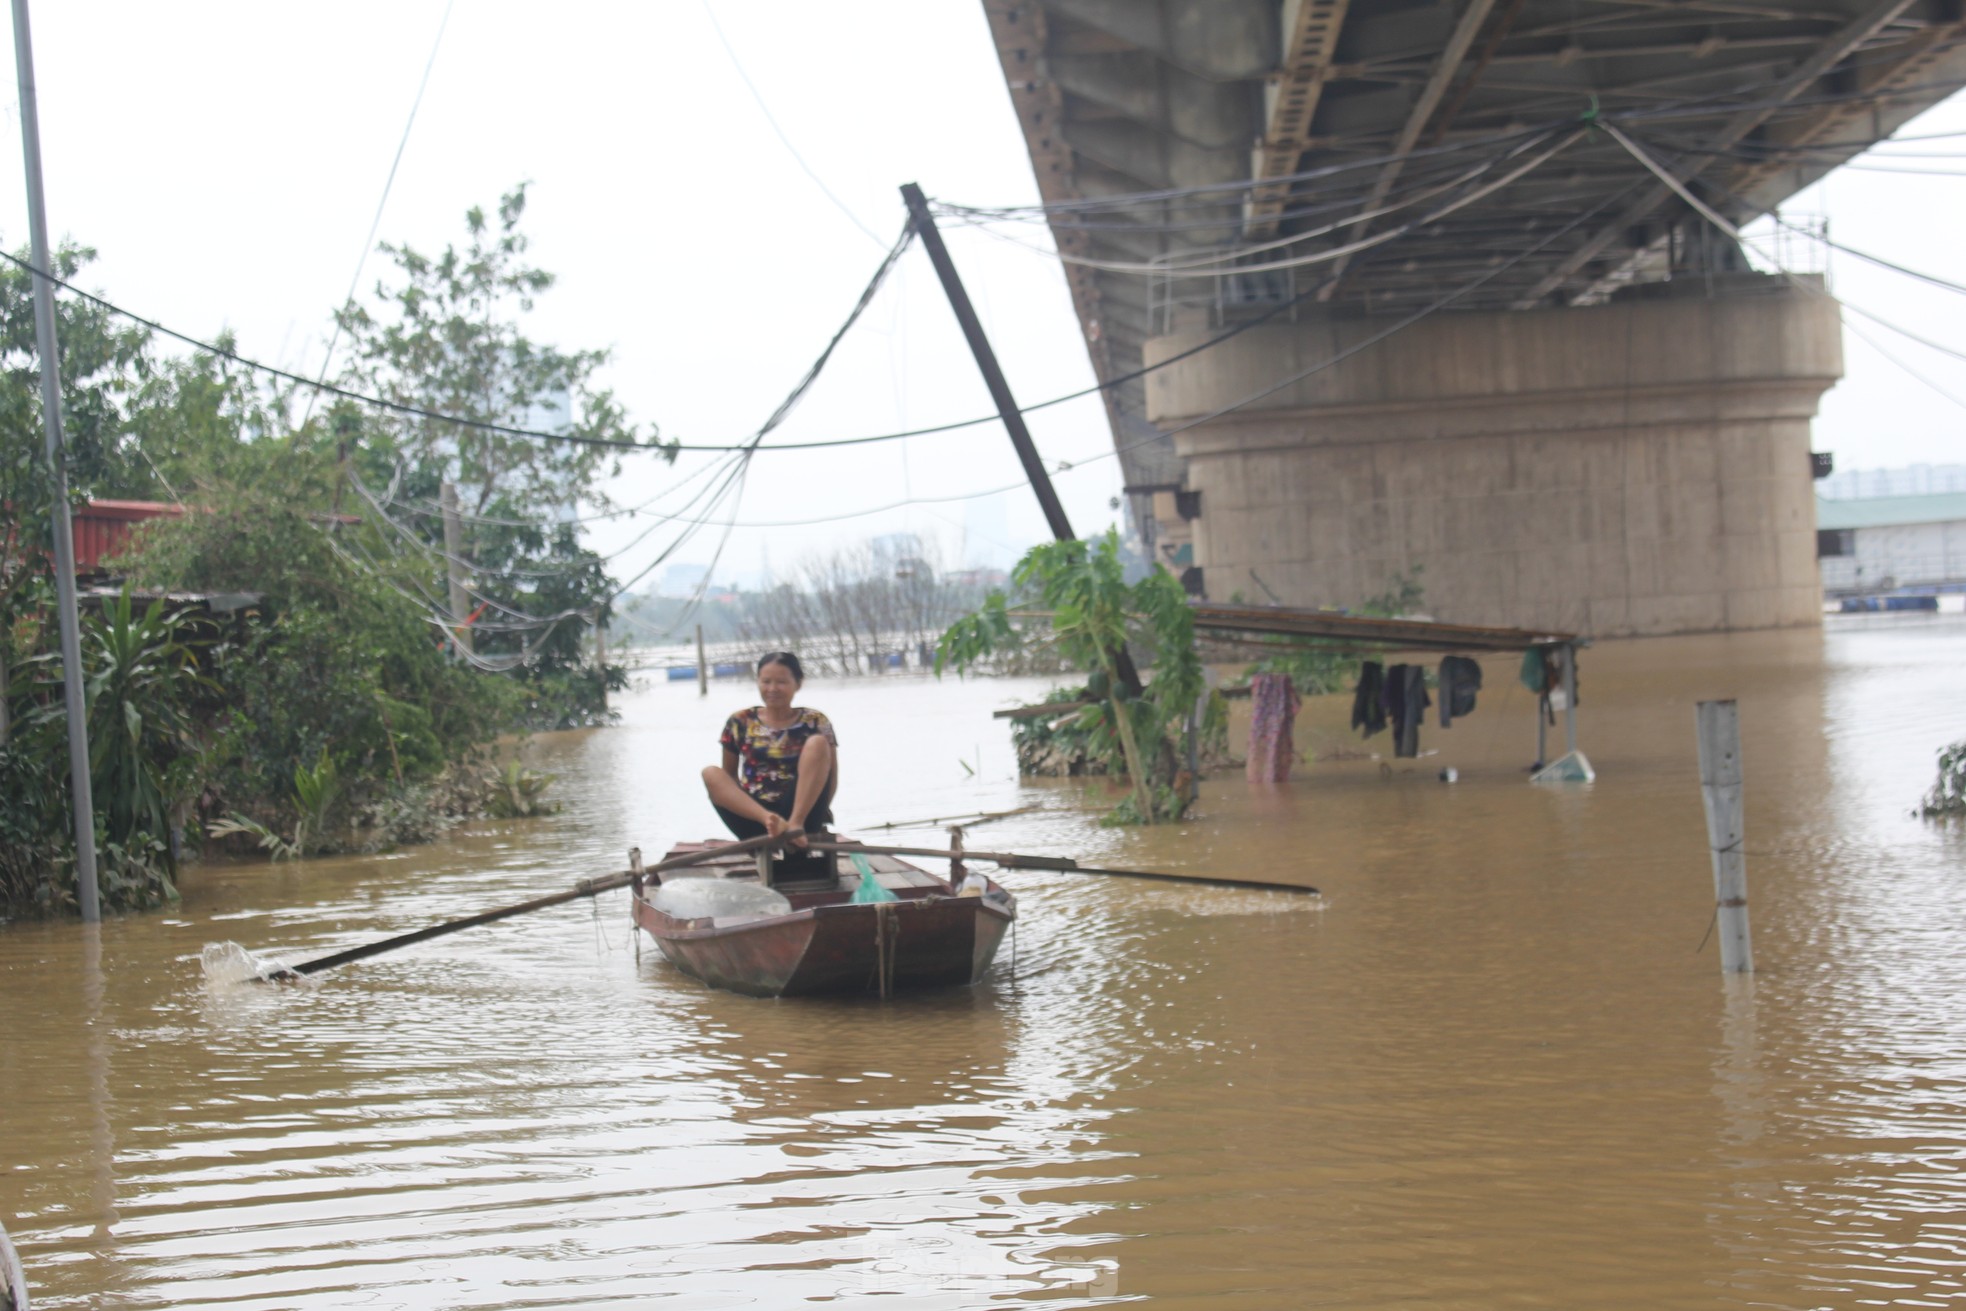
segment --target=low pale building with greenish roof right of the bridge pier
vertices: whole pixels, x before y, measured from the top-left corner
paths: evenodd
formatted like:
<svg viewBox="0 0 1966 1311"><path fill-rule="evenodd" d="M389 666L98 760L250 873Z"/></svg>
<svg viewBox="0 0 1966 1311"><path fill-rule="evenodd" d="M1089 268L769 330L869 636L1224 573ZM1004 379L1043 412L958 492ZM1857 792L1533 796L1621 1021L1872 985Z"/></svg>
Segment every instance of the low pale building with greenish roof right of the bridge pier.
<svg viewBox="0 0 1966 1311"><path fill-rule="evenodd" d="M1925 470L1940 472L1876 472ZM1817 501L1817 560L1830 596L1966 592L1966 482L1956 491Z"/></svg>

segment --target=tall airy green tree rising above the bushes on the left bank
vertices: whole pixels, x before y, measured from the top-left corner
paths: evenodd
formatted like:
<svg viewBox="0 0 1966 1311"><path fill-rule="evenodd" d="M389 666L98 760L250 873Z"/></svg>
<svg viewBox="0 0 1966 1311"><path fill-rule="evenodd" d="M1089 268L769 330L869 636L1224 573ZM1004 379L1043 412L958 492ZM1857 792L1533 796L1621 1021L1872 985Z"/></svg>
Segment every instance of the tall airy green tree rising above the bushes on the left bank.
<svg viewBox="0 0 1966 1311"><path fill-rule="evenodd" d="M552 273L527 259L521 230L525 187L497 212L466 212L466 242L425 256L383 246L393 283L377 307L348 305L336 316L352 344L346 381L389 401L450 419L364 417L356 470L395 487L381 505L407 537L423 542L442 572L442 484L464 505L462 556L480 619L480 656L519 664L533 686L539 725L600 715L604 688L619 670L596 670L588 629L611 617L606 562L580 546L566 523L576 505L606 505L602 482L619 472L621 448L639 440L613 393L596 385L606 350L566 352L531 340L523 316L552 287ZM580 442L550 442L472 425L556 427ZM651 442L674 460L674 446ZM442 596L442 590L433 584Z"/></svg>

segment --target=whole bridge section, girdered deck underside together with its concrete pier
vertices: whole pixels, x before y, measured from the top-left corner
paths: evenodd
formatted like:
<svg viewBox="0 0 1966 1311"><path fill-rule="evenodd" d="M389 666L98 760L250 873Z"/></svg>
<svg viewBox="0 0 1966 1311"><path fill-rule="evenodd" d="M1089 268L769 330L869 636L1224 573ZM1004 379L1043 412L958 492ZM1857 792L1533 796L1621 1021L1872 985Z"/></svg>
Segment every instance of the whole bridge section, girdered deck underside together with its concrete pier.
<svg viewBox="0 0 1966 1311"><path fill-rule="evenodd" d="M1467 623L1819 621L1838 311L1679 191L1748 222L1895 132L1966 83L1960 0L985 10L1099 377L1244 328L1107 391L1132 521L1191 590L1347 605L1419 566ZM1677 187L1571 130L1590 108ZM1547 161L1451 216L1321 232L1545 128ZM1087 208L1195 187L1221 191ZM1140 271L1272 252L1335 254Z"/></svg>

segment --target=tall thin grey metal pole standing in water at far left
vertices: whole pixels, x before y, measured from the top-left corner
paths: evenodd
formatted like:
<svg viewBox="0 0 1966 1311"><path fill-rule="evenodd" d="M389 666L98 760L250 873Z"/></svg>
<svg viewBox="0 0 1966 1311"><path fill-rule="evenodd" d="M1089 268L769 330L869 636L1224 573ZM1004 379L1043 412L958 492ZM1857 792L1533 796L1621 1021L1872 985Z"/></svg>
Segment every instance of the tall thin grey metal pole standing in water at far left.
<svg viewBox="0 0 1966 1311"><path fill-rule="evenodd" d="M20 69L20 143L28 163L28 238L33 257L33 340L41 354L41 423L55 499L55 609L61 617L61 694L69 712L69 788L75 796L75 904L100 920L96 902L96 802L88 790L88 715L83 700L83 629L75 617L75 527L69 523L69 462L61 442L61 356L55 344L53 256L41 197L41 116L33 100L28 0L14 0L14 63Z"/></svg>

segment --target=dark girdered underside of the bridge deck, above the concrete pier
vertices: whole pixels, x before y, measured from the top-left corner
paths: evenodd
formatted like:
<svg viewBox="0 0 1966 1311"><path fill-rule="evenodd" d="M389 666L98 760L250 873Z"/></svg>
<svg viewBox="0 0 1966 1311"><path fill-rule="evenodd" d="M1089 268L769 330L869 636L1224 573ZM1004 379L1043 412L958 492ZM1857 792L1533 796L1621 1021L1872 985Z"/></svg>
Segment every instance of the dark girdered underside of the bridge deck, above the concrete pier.
<svg viewBox="0 0 1966 1311"><path fill-rule="evenodd" d="M1414 222L1429 208L1410 200L1524 134L1602 114L1740 224L1966 85L1960 0L983 8L1101 381L1138 370L1142 344L1176 320L1248 320L1300 301L1408 314L1526 248L1537 250L1453 309L1592 305L1675 269L1740 267L1740 252L1604 132L1577 134L1437 220ZM1071 208L1193 187L1225 191ZM1258 248L1288 238L1300 238L1292 256L1386 240L1262 275L1138 271L1239 250L1274 263L1276 248ZM1182 485L1172 440L1144 417L1142 379L1105 397L1127 485Z"/></svg>

